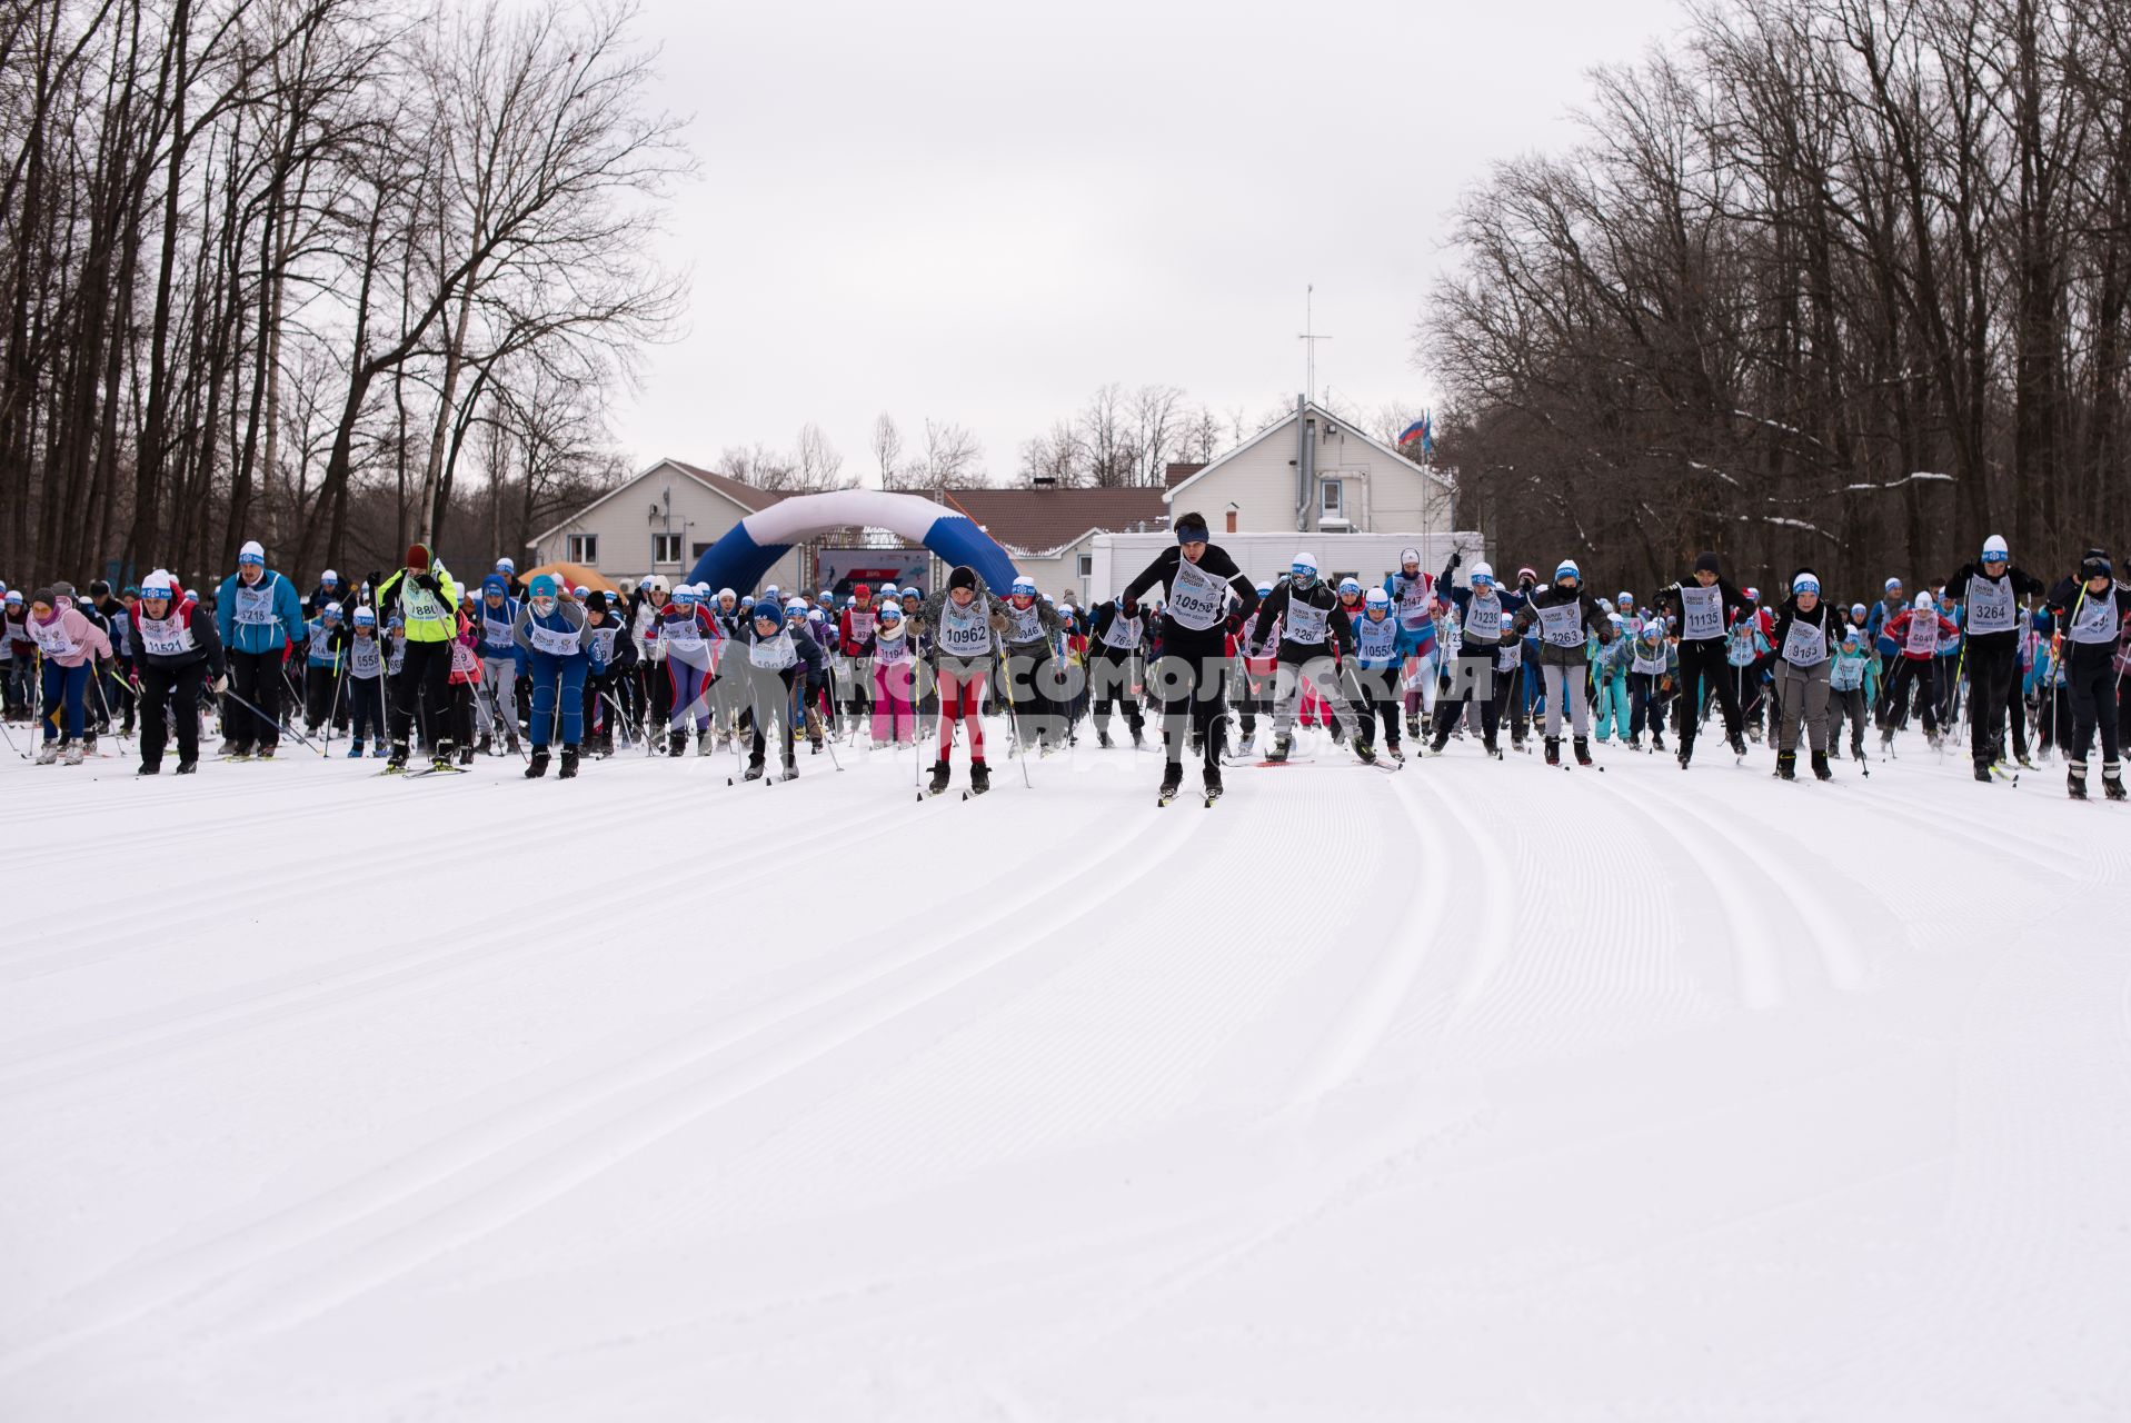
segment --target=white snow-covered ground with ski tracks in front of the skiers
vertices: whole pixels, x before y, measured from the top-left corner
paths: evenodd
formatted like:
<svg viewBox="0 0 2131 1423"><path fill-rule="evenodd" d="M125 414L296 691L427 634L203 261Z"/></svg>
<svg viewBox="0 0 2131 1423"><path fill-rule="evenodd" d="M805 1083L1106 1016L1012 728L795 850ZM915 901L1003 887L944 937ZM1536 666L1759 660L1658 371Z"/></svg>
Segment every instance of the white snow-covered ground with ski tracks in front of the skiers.
<svg viewBox="0 0 2131 1423"><path fill-rule="evenodd" d="M2131 816L1901 750L9 758L0 1417L2122 1419Z"/></svg>

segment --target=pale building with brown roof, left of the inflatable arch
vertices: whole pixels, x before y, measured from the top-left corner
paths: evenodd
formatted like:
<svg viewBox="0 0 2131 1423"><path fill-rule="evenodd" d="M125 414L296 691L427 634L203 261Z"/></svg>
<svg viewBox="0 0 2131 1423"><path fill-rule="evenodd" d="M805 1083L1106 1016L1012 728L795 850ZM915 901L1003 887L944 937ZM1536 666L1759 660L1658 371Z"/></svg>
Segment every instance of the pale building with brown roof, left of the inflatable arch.
<svg viewBox="0 0 2131 1423"><path fill-rule="evenodd" d="M595 498L554 528L533 539L537 567L580 562L614 582L637 582L652 573L686 577L703 552L733 524L767 509L782 494L765 494L680 460L658 460L635 479ZM799 550L784 554L763 575L763 584L799 586Z"/></svg>

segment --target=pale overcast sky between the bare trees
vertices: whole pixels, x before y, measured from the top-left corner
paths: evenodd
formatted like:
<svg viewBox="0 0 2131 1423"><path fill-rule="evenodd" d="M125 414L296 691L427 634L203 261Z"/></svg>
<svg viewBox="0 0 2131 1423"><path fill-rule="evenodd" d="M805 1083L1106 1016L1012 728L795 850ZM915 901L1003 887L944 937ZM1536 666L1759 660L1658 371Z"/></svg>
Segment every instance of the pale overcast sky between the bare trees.
<svg viewBox="0 0 2131 1423"><path fill-rule="evenodd" d="M970 426L993 479L1104 381L1251 415L1428 400L1421 296L1458 192L1560 147L1583 72L1677 0L1063 6L644 0L701 179L686 334L614 420L631 460L788 447L872 477L874 415Z"/></svg>

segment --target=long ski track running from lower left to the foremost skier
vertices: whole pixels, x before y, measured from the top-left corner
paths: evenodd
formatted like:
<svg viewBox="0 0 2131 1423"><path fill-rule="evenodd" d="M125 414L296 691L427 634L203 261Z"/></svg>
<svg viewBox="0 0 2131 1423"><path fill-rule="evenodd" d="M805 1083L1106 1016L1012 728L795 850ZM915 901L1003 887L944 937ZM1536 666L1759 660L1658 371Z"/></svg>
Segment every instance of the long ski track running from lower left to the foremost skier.
<svg viewBox="0 0 2131 1423"><path fill-rule="evenodd" d="M1146 829L1127 833L1097 865L1127 854ZM1063 884L1076 873L1080 871L1066 871L1059 882ZM181 1246L132 1270L126 1280L90 1285L72 1297L77 1306L72 1312L90 1319L60 1325L45 1340L0 1355L0 1376L179 1299L198 1299L217 1289L247 1297L256 1293L258 1282L247 1280L232 1287L230 1282L239 1276L254 1276L260 1267L315 1253L318 1246L330 1246L337 1238L381 1216L405 1218L388 1223L390 1233L371 1242L364 1261L341 1259L339 1272L318 1265L303 1267L300 1261L290 1265L288 1274L300 1276L303 1285L283 1282L277 1325L288 1327L311 1319L420 1265L424 1259L501 1229L520 1214L686 1127L703 1112L797 1072L872 1027L1004 963L1021 950L1014 946L993 948L978 954L974 963L953 961L950 950L991 931L1006 916L1008 910L995 910L976 920L974 927L963 927L955 937L931 948L872 961L840 974L831 984L791 995L774 1005L746 1010L729 1023L699 1025L669 1037L652 1052L618 1065L609 1063L565 1089L516 1103L479 1123L467 1123L452 1135L437 1138L309 1201L283 1204L251 1227ZM908 969L927 967L931 978L918 986L904 988L886 982ZM872 993L886 997L891 1008L884 1012L869 1005L844 1010L842 1020L837 1020L833 1010L840 1003ZM795 1046L784 1054L780 1054L784 1044L767 1046L754 1057L765 1057L769 1063L752 1072L746 1069L750 1061L742 1050L810 1014L831 1020L801 1027L795 1033ZM707 1042L690 1042L697 1035L707 1037ZM720 1072L722 1063L716 1059L727 1054L744 1061ZM705 1063L707 1072L703 1072ZM437 1204L424 1199L443 1195L448 1187L469 1174L477 1174L482 1180L456 1199ZM388 1242L392 1242L390 1248L386 1248Z"/></svg>

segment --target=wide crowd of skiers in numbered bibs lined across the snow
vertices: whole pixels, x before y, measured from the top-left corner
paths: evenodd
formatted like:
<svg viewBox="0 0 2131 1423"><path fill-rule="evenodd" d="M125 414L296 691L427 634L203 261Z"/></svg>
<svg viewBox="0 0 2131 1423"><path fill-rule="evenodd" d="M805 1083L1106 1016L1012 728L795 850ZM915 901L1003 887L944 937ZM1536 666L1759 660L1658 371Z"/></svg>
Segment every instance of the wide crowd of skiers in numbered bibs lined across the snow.
<svg viewBox="0 0 2131 1423"><path fill-rule="evenodd" d="M1443 754L1453 739L1500 758L1504 722L1509 750L1536 731L1549 765L1566 722L1577 765L1596 739L1686 769L1715 714L1735 756L1760 741L1794 780L1803 750L1831 780L1845 741L1865 765L1871 731L1892 754L1914 720L1933 748L1965 726L1984 782L2054 746L2078 799L2099 741L2101 788L2125 799L2131 584L2099 550L2041 579L1990 537L1914 596L1888 577L1845 607L1811 569L1773 596L1735 586L1718 554L1645 601L1594 594L1573 558L1549 579L1534 567L1504 579L1458 554L1426 571L1411 547L1372 586L1321 577L1306 552L1253 582L1202 518L1178 516L1174 535L1087 609L1027 577L995 592L967 567L933 592L857 584L812 599L663 577L609 594L520 579L509 558L471 584L420 543L401 569L356 582L328 569L305 594L245 543L215 588L160 569L124 590L92 582L87 596L0 584L0 701L36 729L43 765L79 765L102 737L139 731L143 775L173 743L177 773L192 773L211 724L224 760L273 758L290 737L381 758L386 773L514 756L528 778L556 763L571 778L582 756L618 750L731 748L735 773L759 780L771 741L791 778L799 741L833 756L863 739L933 746L931 795L953 780L957 741L970 790L989 788L985 714L1004 712L1034 756L1083 733L1108 748L1121 716L1134 746L1157 722L1164 803L1187 754L1213 803L1223 765L1296 756L1298 724L1383 769L1409 743ZM409 771L416 752L424 765Z"/></svg>

